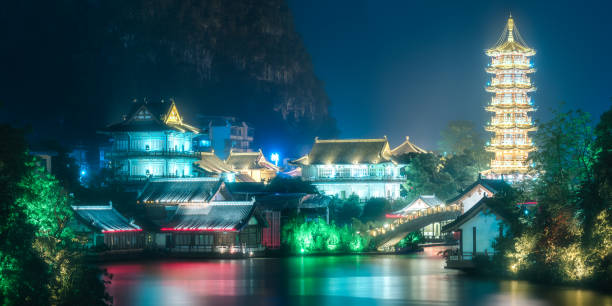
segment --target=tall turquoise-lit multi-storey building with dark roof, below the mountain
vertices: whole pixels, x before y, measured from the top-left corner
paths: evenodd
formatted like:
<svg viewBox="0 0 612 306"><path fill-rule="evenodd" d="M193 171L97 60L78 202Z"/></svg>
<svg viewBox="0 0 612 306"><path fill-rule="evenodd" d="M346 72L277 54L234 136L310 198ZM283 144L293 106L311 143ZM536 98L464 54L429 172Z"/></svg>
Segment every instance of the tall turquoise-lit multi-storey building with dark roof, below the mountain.
<svg viewBox="0 0 612 306"><path fill-rule="evenodd" d="M136 102L121 122L102 132L111 137L106 158L119 178L194 176L199 153L192 142L200 130L183 122L174 101Z"/></svg>

